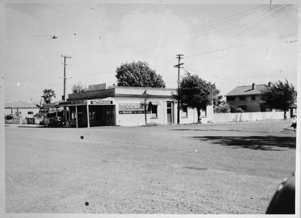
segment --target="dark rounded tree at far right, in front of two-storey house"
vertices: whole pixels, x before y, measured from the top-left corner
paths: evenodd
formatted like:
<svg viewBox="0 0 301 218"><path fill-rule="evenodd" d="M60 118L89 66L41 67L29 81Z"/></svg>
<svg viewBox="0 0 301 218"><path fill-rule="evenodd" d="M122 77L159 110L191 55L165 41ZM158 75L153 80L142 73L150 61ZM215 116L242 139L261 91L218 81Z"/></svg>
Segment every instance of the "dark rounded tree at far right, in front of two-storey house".
<svg viewBox="0 0 301 218"><path fill-rule="evenodd" d="M261 107L268 109L280 109L284 111L284 119L287 119L287 111L296 103L297 92L287 79L285 82L276 81L265 85L261 90Z"/></svg>

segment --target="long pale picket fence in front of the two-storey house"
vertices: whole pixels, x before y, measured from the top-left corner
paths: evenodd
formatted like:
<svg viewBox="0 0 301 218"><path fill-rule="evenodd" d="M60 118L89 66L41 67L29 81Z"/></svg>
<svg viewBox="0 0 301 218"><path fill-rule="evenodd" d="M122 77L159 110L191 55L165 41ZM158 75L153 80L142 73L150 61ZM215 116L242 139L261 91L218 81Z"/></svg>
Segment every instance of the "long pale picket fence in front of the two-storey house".
<svg viewBox="0 0 301 218"><path fill-rule="evenodd" d="M289 113L287 113L289 115ZM246 122L258 120L282 120L283 111L246 112L246 113L213 113L212 122Z"/></svg>

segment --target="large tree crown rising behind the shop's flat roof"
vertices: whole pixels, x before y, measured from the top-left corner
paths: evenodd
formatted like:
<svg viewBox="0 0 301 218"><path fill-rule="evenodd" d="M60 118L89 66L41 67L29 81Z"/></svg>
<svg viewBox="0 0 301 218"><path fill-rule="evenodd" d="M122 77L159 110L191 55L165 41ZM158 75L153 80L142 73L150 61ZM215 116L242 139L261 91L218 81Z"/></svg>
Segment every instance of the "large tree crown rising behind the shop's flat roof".
<svg viewBox="0 0 301 218"><path fill-rule="evenodd" d="M150 69L147 62L121 64L116 69L117 85L131 87L165 87L160 74Z"/></svg>

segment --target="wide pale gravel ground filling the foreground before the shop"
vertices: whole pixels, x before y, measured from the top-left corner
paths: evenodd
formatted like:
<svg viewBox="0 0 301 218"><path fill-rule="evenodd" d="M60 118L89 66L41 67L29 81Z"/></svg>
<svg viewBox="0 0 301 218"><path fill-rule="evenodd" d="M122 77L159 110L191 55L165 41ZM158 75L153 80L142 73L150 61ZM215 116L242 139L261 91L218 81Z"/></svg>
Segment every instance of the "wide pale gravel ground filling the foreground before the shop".
<svg viewBox="0 0 301 218"><path fill-rule="evenodd" d="M290 122L5 124L6 213L257 214L295 171Z"/></svg>

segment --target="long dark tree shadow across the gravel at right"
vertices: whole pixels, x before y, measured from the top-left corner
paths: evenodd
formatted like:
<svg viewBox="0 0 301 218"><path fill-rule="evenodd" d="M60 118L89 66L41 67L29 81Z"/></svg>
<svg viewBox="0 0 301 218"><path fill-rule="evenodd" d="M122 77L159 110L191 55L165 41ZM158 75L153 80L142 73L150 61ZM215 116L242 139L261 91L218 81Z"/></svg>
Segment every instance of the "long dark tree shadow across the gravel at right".
<svg viewBox="0 0 301 218"><path fill-rule="evenodd" d="M192 138L200 141L209 141L220 146L233 146L233 148L250 148L254 150L282 150L277 148L296 148L295 136L200 136Z"/></svg>

